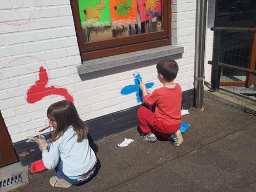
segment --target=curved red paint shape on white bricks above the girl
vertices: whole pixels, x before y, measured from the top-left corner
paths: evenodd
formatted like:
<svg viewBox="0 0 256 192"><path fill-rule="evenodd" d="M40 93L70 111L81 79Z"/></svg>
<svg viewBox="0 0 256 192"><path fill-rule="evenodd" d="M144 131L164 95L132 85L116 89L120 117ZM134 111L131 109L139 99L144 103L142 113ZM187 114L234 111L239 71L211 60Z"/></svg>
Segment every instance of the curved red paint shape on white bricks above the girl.
<svg viewBox="0 0 256 192"><path fill-rule="evenodd" d="M34 104L37 101L43 99L43 97L50 95L60 95L65 97L66 100L73 103L73 97L68 93L66 88L56 88L55 86L46 87L48 84L48 75L45 68L40 67L39 80L36 81L35 85L29 87L27 91L27 102Z"/></svg>

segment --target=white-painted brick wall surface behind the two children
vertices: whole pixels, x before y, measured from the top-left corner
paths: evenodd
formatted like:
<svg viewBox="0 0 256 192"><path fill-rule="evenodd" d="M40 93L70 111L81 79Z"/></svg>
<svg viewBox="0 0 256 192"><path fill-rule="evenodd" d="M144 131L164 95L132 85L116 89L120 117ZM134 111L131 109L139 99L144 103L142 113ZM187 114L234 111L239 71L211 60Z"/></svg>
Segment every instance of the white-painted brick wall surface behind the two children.
<svg viewBox="0 0 256 192"><path fill-rule="evenodd" d="M37 135L47 123L49 105L63 100L47 96L28 104L26 92L38 80L41 66L47 69L48 86L64 87L71 93L82 120L89 120L139 105L135 93L121 95L121 88L134 84L134 72L159 88L155 65L81 81L81 65L70 0L0 1L0 110L12 141ZM177 60L176 82L183 91L193 88L196 0L174 0L173 45L184 46ZM22 5L22 6L21 6ZM18 15L18 17L17 17ZM115 68L113 69L115 70Z"/></svg>

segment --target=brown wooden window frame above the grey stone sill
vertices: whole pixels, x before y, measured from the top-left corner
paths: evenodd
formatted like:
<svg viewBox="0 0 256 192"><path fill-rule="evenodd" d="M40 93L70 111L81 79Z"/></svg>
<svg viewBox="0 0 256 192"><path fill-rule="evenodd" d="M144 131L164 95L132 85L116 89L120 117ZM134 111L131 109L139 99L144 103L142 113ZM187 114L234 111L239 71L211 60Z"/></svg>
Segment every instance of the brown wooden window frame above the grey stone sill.
<svg viewBox="0 0 256 192"><path fill-rule="evenodd" d="M163 31L89 43L83 41L78 0L71 0L71 7L82 61L171 45L171 0L163 0Z"/></svg>

